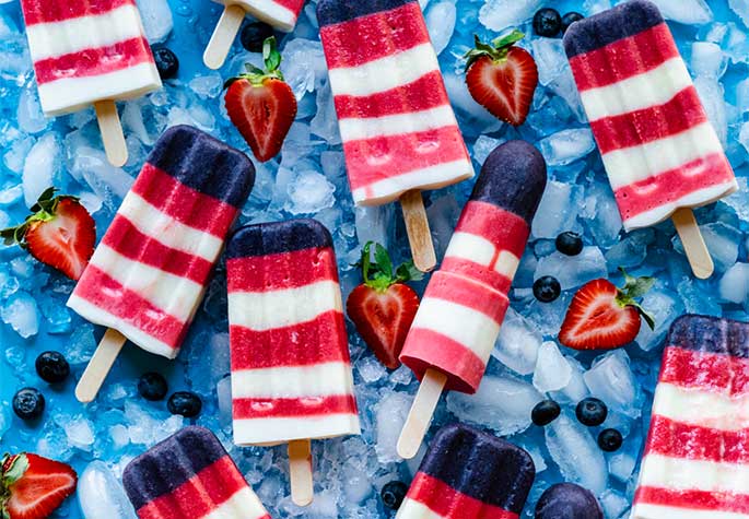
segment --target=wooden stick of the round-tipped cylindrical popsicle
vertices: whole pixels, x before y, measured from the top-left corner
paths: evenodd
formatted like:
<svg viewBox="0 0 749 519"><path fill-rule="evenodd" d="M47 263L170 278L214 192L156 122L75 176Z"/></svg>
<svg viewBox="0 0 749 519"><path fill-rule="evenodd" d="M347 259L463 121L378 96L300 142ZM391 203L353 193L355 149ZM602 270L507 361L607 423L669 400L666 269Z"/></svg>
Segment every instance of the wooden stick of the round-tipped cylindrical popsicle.
<svg viewBox="0 0 749 519"><path fill-rule="evenodd" d="M426 369L398 438L396 450L401 458L410 460L419 452L446 381L447 376L444 373Z"/></svg>

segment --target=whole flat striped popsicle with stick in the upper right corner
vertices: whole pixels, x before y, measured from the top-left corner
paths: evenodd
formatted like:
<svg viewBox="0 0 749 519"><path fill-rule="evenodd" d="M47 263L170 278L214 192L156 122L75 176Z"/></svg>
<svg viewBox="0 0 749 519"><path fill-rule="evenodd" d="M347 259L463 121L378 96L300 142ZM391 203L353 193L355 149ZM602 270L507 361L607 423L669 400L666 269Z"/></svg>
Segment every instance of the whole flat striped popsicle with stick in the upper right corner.
<svg viewBox="0 0 749 519"><path fill-rule="evenodd" d="M627 231L674 221L699 278L713 262L690 208L737 184L658 8L634 0L564 35Z"/></svg>

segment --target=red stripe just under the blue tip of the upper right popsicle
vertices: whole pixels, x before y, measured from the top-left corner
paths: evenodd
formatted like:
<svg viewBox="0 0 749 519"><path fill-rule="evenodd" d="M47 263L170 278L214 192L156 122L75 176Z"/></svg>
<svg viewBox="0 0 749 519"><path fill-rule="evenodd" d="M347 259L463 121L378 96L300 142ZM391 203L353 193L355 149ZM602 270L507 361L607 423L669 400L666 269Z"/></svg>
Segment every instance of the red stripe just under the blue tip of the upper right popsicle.
<svg viewBox="0 0 749 519"><path fill-rule="evenodd" d="M632 59L636 56L637 59ZM662 23L605 47L577 55L570 60L581 92L608 86L648 72L671 58L678 58L668 25Z"/></svg>

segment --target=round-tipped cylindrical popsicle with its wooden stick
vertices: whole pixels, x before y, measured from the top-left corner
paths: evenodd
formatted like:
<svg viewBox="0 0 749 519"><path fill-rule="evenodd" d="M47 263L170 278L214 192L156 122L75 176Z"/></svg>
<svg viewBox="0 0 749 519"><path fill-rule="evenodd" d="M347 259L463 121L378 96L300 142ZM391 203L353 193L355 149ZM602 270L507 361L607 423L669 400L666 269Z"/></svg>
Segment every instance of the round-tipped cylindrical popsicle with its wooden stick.
<svg viewBox="0 0 749 519"><path fill-rule="evenodd" d="M481 168L400 354L421 380L398 441L403 458L416 456L443 389L478 389L545 187L546 162L524 141L500 145Z"/></svg>

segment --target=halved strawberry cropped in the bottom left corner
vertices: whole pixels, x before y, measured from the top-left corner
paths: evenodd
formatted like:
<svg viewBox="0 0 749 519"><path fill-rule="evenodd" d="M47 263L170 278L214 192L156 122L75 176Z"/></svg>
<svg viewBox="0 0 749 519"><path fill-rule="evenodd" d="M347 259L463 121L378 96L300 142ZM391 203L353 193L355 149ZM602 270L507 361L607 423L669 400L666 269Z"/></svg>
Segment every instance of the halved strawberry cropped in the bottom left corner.
<svg viewBox="0 0 749 519"><path fill-rule="evenodd" d="M75 491L78 475L65 463L37 455L5 455L0 471L2 519L49 517Z"/></svg>

